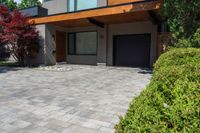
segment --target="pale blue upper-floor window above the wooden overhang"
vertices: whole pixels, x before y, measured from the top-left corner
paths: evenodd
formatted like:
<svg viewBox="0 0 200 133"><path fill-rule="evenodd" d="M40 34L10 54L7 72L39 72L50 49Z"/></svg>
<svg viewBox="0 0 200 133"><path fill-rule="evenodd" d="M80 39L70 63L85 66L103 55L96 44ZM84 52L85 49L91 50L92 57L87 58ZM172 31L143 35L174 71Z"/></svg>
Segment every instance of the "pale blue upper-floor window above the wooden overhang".
<svg viewBox="0 0 200 133"><path fill-rule="evenodd" d="M98 0L68 0L68 11L78 11L98 7Z"/></svg>

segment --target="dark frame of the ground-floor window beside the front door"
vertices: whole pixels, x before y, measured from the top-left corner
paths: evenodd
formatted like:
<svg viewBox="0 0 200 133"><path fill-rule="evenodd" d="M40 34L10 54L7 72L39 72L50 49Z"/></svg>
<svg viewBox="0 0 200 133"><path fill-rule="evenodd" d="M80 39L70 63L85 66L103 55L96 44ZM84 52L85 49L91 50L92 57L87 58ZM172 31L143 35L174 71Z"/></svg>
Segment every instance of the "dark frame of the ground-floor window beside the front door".
<svg viewBox="0 0 200 133"><path fill-rule="evenodd" d="M96 33L96 54L78 54L77 53L77 43L76 43L76 34L77 33L89 33L89 32L95 32ZM74 45L73 45L73 48L74 48L74 51L73 53L70 53L70 45L69 45L69 36L70 34L73 34L74 35ZM91 56L97 56L97 49L98 49L98 32L97 31L79 31L79 32L69 32L67 34L67 54L68 55L83 55L83 56L87 56L87 55L91 55Z"/></svg>

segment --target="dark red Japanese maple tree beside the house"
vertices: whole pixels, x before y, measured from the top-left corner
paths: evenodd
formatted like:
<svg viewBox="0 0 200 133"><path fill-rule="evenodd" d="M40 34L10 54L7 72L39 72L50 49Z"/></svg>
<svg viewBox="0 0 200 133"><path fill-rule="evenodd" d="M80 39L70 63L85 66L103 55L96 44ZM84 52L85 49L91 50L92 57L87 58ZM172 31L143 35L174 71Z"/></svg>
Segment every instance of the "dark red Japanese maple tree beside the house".
<svg viewBox="0 0 200 133"><path fill-rule="evenodd" d="M19 11L9 12L0 6L0 45L7 45L20 65L24 65L25 57L33 57L39 50L39 35L29 18Z"/></svg>

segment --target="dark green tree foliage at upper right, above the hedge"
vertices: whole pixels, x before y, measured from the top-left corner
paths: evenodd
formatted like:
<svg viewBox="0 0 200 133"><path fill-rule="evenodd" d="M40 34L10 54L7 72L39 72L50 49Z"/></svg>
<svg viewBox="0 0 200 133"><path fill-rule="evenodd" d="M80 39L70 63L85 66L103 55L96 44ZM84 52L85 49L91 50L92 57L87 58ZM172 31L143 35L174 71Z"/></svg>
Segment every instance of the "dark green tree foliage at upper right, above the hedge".
<svg viewBox="0 0 200 133"><path fill-rule="evenodd" d="M200 27L199 0L164 0L163 14L177 39L189 38Z"/></svg>

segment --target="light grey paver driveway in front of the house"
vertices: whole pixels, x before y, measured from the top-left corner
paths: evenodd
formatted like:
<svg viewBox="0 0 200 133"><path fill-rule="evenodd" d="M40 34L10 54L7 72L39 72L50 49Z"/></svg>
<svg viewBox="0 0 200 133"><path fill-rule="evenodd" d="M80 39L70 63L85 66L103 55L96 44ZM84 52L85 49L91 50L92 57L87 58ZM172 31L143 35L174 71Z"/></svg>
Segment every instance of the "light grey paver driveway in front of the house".
<svg viewBox="0 0 200 133"><path fill-rule="evenodd" d="M55 68L0 68L0 133L112 133L151 77L139 68Z"/></svg>

